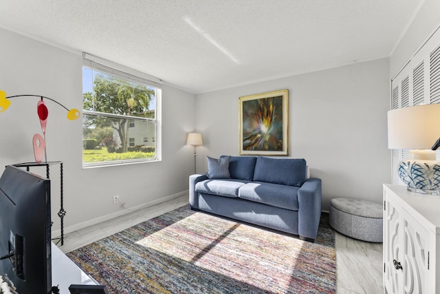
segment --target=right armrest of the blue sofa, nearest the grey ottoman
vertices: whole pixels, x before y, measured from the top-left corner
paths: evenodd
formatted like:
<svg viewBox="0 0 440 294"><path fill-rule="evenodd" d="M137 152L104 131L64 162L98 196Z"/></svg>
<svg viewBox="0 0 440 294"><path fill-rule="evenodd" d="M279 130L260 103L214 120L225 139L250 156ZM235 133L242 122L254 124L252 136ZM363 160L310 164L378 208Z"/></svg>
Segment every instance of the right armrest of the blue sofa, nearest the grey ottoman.
<svg viewBox="0 0 440 294"><path fill-rule="evenodd" d="M322 189L319 178L309 178L298 190L298 234L316 239L321 218Z"/></svg>

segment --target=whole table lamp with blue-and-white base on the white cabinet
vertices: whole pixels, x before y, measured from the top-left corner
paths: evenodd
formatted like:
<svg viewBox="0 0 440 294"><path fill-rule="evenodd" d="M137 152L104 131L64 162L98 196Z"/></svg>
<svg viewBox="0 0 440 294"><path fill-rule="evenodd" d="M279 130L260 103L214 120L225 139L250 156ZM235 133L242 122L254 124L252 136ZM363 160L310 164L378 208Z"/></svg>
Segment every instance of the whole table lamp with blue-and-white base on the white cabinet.
<svg viewBox="0 0 440 294"><path fill-rule="evenodd" d="M408 191L440 195L440 162L434 152L440 137L440 104L417 105L388 112L388 148L412 149L397 173Z"/></svg>

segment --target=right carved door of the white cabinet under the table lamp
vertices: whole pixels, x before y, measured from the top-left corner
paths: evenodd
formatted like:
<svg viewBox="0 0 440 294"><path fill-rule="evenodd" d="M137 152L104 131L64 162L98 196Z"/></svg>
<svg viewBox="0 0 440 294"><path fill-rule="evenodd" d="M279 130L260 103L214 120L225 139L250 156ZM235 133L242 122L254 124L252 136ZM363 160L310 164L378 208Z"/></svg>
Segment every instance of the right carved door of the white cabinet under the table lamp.
<svg viewBox="0 0 440 294"><path fill-rule="evenodd" d="M430 235L421 224L412 218L406 211L403 213L404 224L404 260L402 267L404 272L403 293L434 293L428 291L428 277L430 276ZM435 242L435 241L433 241Z"/></svg>

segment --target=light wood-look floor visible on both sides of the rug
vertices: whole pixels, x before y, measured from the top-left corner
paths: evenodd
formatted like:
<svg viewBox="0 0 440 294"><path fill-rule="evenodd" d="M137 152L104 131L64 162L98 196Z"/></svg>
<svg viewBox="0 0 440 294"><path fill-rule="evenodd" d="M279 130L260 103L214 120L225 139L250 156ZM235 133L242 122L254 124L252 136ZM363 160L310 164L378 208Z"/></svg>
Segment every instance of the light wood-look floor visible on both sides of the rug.
<svg viewBox="0 0 440 294"><path fill-rule="evenodd" d="M60 248L65 253L72 251L185 204L188 204L188 196L181 196L102 224L74 231L65 235L64 245ZM363 242L336 233L336 293L384 293L382 248L382 243Z"/></svg>

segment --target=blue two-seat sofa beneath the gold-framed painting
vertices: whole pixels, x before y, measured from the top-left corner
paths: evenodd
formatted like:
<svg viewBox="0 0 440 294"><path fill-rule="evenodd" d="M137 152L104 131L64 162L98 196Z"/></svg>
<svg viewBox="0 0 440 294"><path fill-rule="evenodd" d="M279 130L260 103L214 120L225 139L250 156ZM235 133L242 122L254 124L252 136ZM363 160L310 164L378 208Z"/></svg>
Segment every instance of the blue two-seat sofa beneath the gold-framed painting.
<svg viewBox="0 0 440 294"><path fill-rule="evenodd" d="M304 159L221 156L229 177L189 178L193 210L299 235L314 242L321 216L321 180L307 177ZM212 158L208 158L212 159Z"/></svg>

